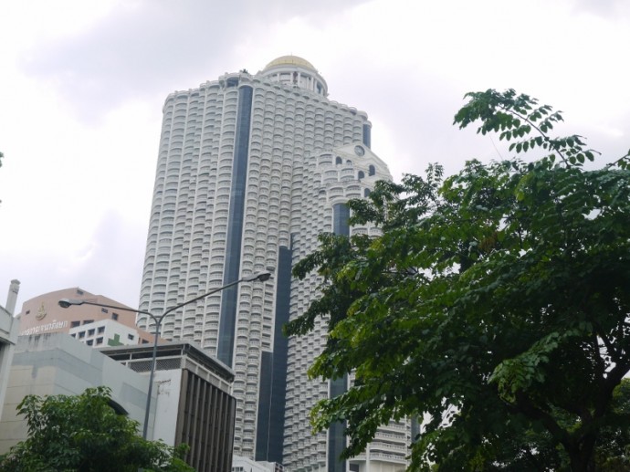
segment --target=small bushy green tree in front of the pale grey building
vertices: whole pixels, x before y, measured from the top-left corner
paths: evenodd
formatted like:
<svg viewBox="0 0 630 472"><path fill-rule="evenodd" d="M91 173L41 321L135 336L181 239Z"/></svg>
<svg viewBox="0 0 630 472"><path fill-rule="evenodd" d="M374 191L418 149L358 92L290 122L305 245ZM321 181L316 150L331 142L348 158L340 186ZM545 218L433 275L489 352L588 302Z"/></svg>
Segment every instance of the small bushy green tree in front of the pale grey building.
<svg viewBox="0 0 630 472"><path fill-rule="evenodd" d="M18 405L28 438L0 456L6 472L192 472L170 447L138 435L138 423L111 406L110 389L89 388L75 396L27 395Z"/></svg>

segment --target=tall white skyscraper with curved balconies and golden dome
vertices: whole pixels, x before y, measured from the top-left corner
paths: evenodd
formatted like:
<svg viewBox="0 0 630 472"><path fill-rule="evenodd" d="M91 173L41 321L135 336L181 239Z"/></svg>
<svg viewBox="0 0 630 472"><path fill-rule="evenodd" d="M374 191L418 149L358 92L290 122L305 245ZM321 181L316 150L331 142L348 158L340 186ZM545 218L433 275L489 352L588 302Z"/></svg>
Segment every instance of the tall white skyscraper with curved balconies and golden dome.
<svg viewBox="0 0 630 472"><path fill-rule="evenodd" d="M310 435L308 411L345 387L306 376L325 323L303 339L281 334L317 295L315 276L299 282L291 267L320 232L349 234L344 203L391 178L370 151L367 115L327 96L320 73L295 56L169 95L142 277L140 308L159 314L273 269L267 282L169 315L162 336L195 341L236 372L235 454L292 471L337 469L327 456L335 456L340 432L331 431L336 441ZM146 318L139 325L152 330Z"/></svg>

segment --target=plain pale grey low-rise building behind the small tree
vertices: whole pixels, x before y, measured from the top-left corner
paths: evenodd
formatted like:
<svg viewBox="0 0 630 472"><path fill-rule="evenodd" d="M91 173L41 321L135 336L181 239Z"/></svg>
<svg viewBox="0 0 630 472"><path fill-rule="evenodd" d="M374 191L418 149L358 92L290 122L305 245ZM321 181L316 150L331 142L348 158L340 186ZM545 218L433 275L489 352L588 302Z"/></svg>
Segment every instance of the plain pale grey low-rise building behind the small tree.
<svg viewBox="0 0 630 472"><path fill-rule="evenodd" d="M112 361L66 333L20 336L0 419L0 454L26 439L26 419L16 412L17 404L26 395L76 395L99 385L110 387L112 400L142 425L146 376Z"/></svg>

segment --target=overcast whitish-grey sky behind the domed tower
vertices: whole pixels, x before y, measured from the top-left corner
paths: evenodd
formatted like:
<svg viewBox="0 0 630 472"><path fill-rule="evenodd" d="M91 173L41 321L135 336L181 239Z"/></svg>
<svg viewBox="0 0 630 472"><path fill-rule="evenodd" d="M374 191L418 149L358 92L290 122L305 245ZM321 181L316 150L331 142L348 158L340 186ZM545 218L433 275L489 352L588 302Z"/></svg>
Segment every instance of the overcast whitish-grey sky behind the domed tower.
<svg viewBox="0 0 630 472"><path fill-rule="evenodd" d="M365 110L394 179L509 157L453 115L514 88L612 161L630 147L626 0L0 3L0 305L81 287L138 306L166 96L306 58Z"/></svg>

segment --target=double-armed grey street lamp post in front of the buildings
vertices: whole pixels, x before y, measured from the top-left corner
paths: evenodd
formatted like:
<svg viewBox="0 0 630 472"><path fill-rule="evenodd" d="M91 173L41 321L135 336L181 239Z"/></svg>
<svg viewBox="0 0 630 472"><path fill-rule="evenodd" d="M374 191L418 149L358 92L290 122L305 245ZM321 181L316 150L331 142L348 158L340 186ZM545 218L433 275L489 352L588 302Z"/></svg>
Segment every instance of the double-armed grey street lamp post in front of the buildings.
<svg viewBox="0 0 630 472"><path fill-rule="evenodd" d="M232 287L235 285L240 284L241 282L254 282L256 280L260 280L261 282L264 282L266 280L268 280L271 277L271 272L258 272L256 274L251 274L248 276L244 276L242 278L239 278L238 280L235 280L234 282L230 282L222 287L219 288L215 288L213 290L210 290L209 292L204 293L203 295L199 295L198 297L195 297L194 299L189 299L188 301L184 301L184 303L180 303L179 305L175 305L174 307L170 308L170 309L166 309L161 315L153 315L152 313L150 313L149 311L145 311L143 309L130 309L130 308L124 308L124 307L117 307L114 305L106 305L104 303L96 303L94 301L89 301L89 300L85 300L85 299L60 299L58 301L59 307L61 308L69 308L73 305L94 305L96 307L103 307L103 308L111 308L111 309L122 309L124 311L133 311L134 313L141 313L142 315L147 315L149 317L152 318L152 320L155 322L155 339L153 341L153 354L152 354L152 359L151 359L151 373L149 374L149 392L147 393L147 403L145 406L145 411L144 411L144 425L142 426L142 439L146 439L147 438L147 431L149 428L149 410L151 409L151 394L152 394L152 389L153 389L153 374L155 372L155 361L157 359L157 340L158 340L158 336L160 335L160 325L162 324L162 320L164 319L164 317L166 315L168 315L169 313L172 313L175 309L181 309L182 307L189 305L191 303L194 303L195 301L198 301L200 299L205 299L206 297L209 297L210 295L214 295L217 292L220 292L221 290L225 290L228 287Z"/></svg>

